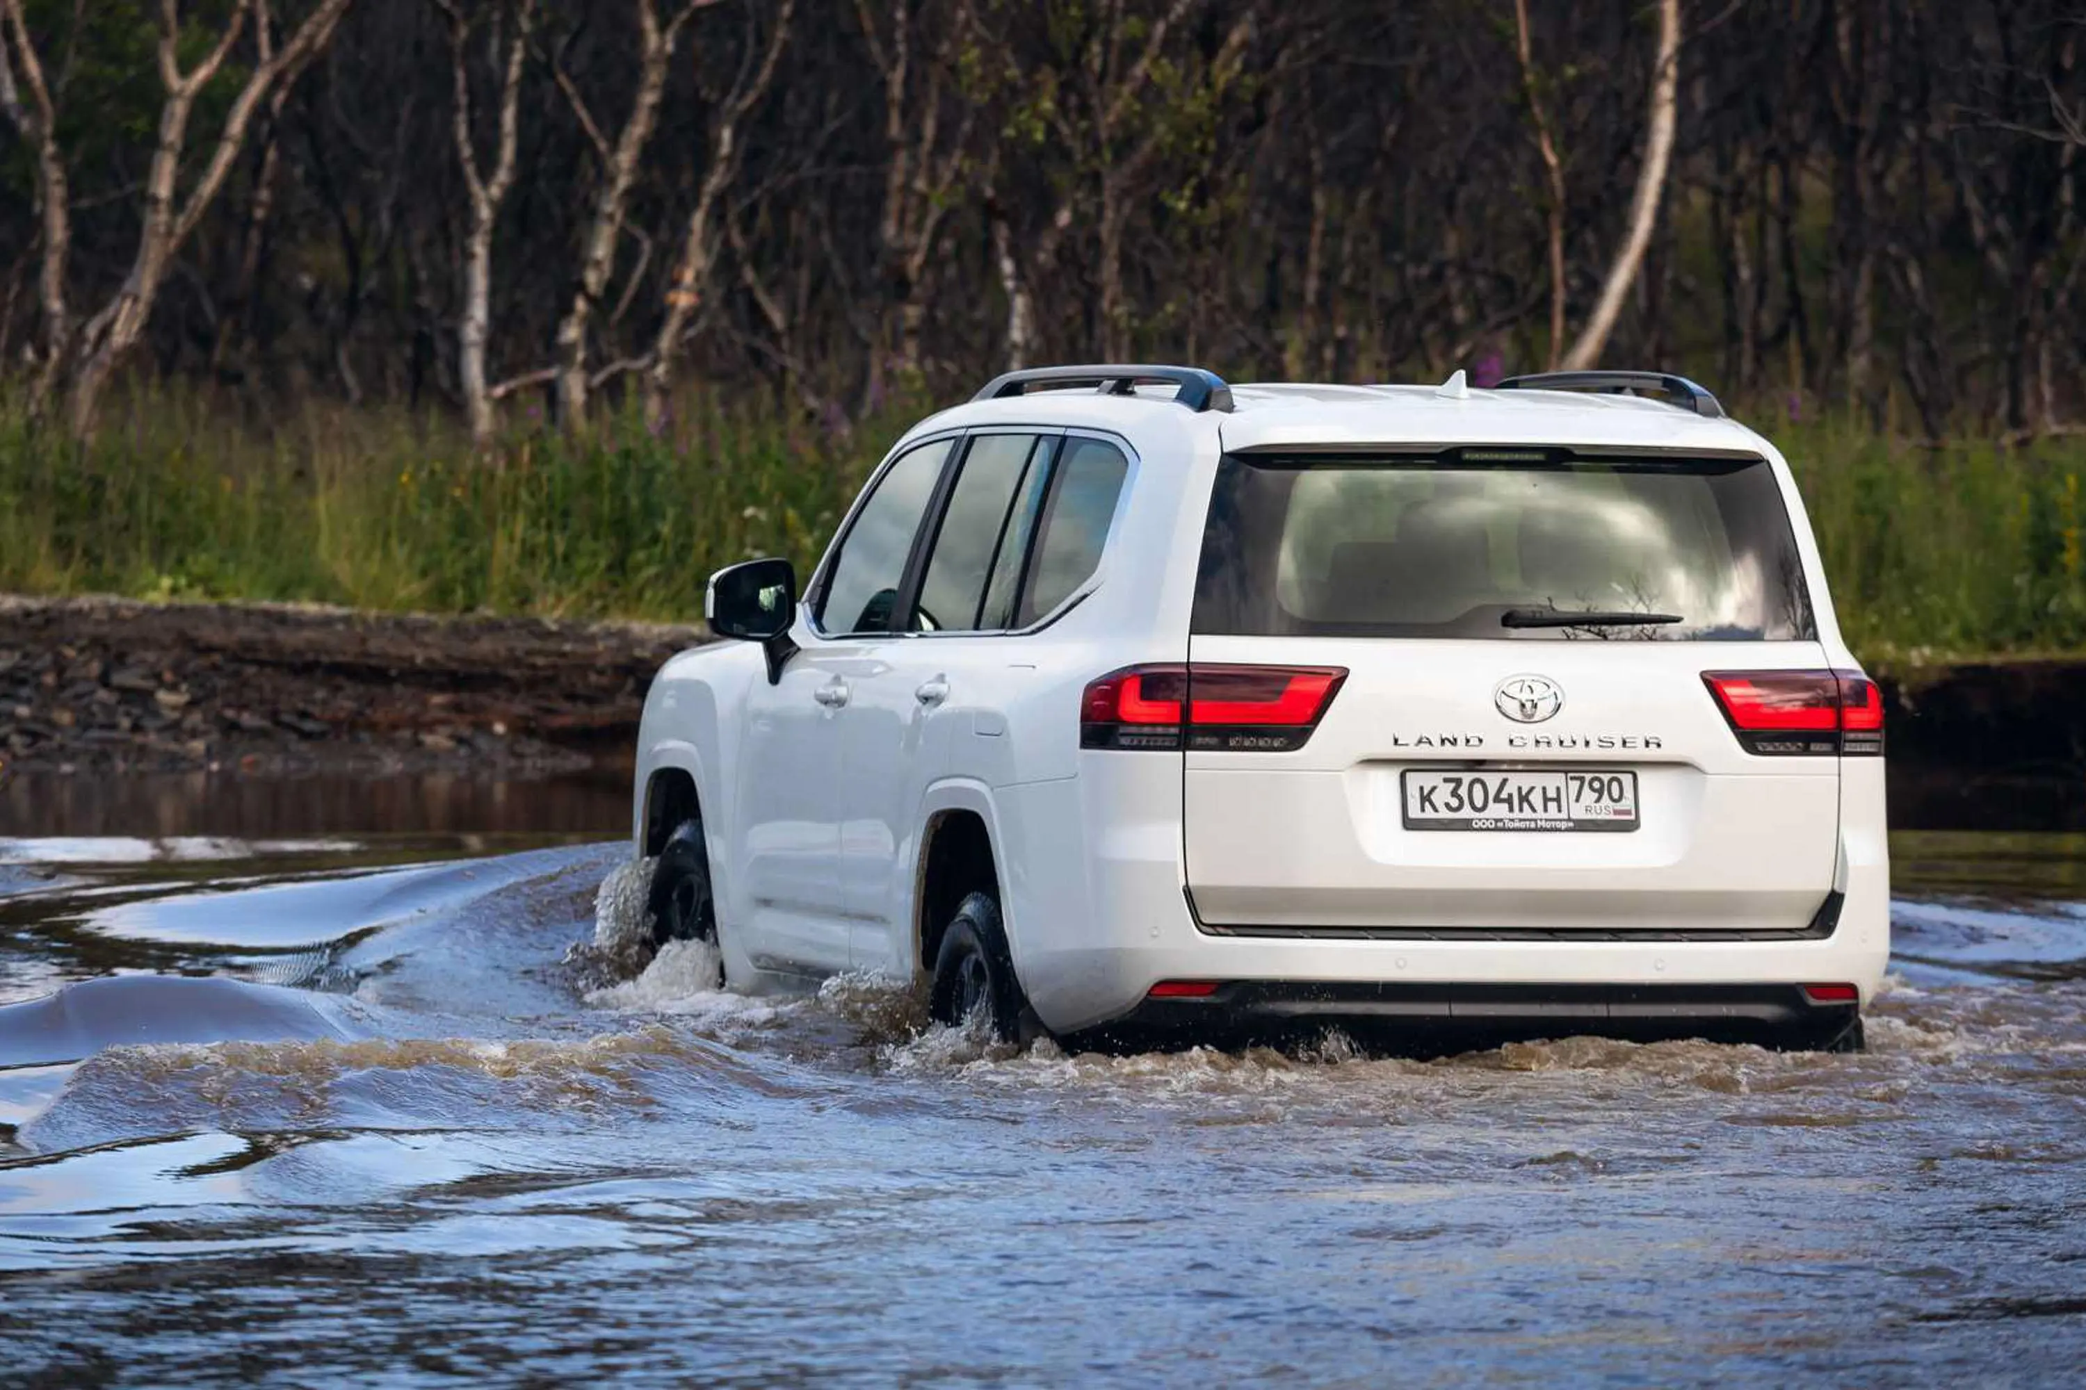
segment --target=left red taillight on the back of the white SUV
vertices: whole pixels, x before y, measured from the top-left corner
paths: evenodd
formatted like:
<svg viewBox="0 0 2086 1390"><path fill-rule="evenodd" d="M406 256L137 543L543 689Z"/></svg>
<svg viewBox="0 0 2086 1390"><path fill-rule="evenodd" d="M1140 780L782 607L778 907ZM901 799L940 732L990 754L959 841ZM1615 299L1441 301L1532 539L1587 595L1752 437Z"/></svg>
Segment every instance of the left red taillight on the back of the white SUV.
<svg viewBox="0 0 2086 1390"><path fill-rule="evenodd" d="M1124 667L1081 696L1078 746L1291 752L1343 679L1343 667Z"/></svg>

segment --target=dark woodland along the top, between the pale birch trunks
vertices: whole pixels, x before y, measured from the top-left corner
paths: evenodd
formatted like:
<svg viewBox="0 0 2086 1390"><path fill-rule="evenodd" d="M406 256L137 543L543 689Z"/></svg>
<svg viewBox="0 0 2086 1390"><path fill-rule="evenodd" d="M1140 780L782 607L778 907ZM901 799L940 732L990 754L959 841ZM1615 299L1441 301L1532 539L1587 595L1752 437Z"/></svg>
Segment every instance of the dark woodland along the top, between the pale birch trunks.
<svg viewBox="0 0 2086 1390"><path fill-rule="evenodd" d="M83 317L136 263L165 100L161 6L21 2L56 88L63 279ZM277 38L315 4L273 4ZM175 6L184 63L234 6ZM513 0L465 8L484 35ZM874 413L893 379L953 394L1014 354L1185 356L1241 377L1529 369L1548 350L1550 196L1510 10L799 4L782 79L745 110L726 163L722 104L780 6L701 4L584 356L607 375L640 369L693 294L701 311L674 348L686 375L843 415ZM486 365L511 383L509 415L549 394L605 175L595 133L622 129L640 69L636 0L536 13L517 79L526 175L490 248ZM1644 6L1529 15L1575 329L1631 202L1652 35ZM1660 225L1608 365L1685 367L1740 396L1800 390L1930 436L2082 419L2078 44L2063 0L1688 4ZM461 56L482 146L496 58L486 42ZM248 23L198 102L186 188L257 60ZM438 6L355 0L280 113L254 121L129 365L236 388L244 408L457 408L471 210L455 60ZM695 219L713 173L715 204ZM35 208L29 144L0 142L0 371L33 369L52 340ZM707 250L680 286L690 221Z"/></svg>

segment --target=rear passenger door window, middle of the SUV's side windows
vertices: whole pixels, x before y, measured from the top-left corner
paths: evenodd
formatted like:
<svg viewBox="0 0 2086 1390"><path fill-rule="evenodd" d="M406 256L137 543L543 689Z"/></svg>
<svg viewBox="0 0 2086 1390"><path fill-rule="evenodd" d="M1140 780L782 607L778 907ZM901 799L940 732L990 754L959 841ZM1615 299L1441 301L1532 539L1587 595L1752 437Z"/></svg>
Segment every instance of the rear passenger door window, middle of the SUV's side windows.
<svg viewBox="0 0 2086 1390"><path fill-rule="evenodd" d="M1028 475L1043 471L1049 450L1041 444L1033 433L972 438L920 579L914 631L1005 627L1003 617L985 621L980 606L987 586L1001 571L999 556L1014 552L1018 569L1020 546L1028 544L1014 502L1028 492Z"/></svg>

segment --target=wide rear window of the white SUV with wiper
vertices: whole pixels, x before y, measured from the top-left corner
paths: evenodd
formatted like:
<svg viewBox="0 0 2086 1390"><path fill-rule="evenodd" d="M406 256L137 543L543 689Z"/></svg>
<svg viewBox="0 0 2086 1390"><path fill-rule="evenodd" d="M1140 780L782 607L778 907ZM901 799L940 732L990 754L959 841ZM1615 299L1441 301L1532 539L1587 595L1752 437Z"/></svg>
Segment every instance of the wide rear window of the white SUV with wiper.
<svg viewBox="0 0 2086 1390"><path fill-rule="evenodd" d="M1473 454L1481 450L1227 456L1210 498L1193 629L1660 642L1817 636L1796 538L1765 461ZM1573 615L1602 621L1571 625Z"/></svg>

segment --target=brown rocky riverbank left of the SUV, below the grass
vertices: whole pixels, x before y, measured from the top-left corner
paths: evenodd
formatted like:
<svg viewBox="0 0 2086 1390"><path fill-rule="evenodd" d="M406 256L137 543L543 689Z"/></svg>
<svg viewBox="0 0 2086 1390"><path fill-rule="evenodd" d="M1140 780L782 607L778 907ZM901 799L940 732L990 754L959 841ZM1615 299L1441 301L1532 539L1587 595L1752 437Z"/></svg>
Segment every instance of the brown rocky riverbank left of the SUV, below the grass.
<svg viewBox="0 0 2086 1390"><path fill-rule="evenodd" d="M530 777L628 756L701 627L0 596L0 773Z"/></svg>

